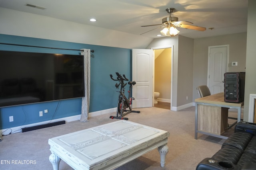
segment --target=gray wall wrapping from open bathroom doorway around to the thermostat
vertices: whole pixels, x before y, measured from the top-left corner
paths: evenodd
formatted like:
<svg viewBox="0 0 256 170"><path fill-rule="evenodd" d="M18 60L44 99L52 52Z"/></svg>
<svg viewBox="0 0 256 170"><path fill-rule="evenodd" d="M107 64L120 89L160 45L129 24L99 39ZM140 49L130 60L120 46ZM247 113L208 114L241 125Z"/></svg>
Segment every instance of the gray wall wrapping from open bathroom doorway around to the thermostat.
<svg viewBox="0 0 256 170"><path fill-rule="evenodd" d="M196 87L207 84L209 46L229 45L228 71L245 71L246 35L237 33L199 39L178 35L154 39L148 49L168 45L173 45L174 48L172 107L179 110L180 106L194 102L198 98ZM238 66L231 66L232 61L237 61Z"/></svg>

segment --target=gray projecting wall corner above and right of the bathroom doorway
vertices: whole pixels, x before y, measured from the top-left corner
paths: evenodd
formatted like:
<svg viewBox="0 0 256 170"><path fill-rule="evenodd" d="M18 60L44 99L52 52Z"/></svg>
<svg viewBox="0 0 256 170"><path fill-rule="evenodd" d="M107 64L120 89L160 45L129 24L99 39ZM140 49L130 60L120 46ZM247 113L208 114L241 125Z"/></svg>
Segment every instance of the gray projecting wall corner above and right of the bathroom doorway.
<svg viewBox="0 0 256 170"><path fill-rule="evenodd" d="M148 49L173 45L172 109L192 103L194 40L182 35L154 39ZM186 100L188 96L188 100Z"/></svg>

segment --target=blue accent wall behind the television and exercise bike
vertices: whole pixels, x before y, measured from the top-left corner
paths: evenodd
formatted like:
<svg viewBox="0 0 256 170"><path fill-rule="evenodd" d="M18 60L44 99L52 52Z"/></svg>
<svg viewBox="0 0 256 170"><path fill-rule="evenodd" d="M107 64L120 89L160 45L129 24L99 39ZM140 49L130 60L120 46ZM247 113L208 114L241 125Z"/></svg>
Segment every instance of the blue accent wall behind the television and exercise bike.
<svg viewBox="0 0 256 170"><path fill-rule="evenodd" d="M91 53L89 112L110 109L117 106L118 93L116 92L117 90L115 87L116 82L110 79L110 74L113 74L113 76L115 77L115 72L120 72L120 74L125 74L126 77L131 80L131 49L54 41L30 37L20 37L4 34L0 34L0 43L32 45L38 47L52 47L62 49L94 50L94 53ZM80 51L47 49L38 47L23 47L0 44L0 50L5 51L25 51L37 53L80 55ZM7 129L10 127L17 127L31 123L38 123L42 121L50 121L52 119L79 115L81 114L81 103L82 98L75 98L52 102L42 102L36 104L26 104L21 106L2 107L0 108L0 129ZM44 111L44 109L48 109L48 113L43 113L43 116L39 117L39 111ZM9 116L14 117L13 122L9 122Z"/></svg>

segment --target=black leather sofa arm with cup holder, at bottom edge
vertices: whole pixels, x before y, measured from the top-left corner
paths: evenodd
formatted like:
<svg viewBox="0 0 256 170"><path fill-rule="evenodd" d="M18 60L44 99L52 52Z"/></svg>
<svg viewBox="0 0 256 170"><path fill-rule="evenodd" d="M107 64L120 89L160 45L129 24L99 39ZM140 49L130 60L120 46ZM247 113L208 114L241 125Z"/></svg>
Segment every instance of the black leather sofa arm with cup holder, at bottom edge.
<svg viewBox="0 0 256 170"><path fill-rule="evenodd" d="M231 162L218 161L212 158L204 158L196 167L196 170L238 170L237 165Z"/></svg>

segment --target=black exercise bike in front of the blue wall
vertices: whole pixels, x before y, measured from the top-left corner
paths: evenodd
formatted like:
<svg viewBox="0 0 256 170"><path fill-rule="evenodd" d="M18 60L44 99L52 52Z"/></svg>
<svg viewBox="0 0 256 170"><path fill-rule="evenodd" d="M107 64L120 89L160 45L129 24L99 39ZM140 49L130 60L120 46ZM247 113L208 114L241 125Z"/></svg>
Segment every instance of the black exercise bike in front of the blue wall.
<svg viewBox="0 0 256 170"><path fill-rule="evenodd" d="M111 119L124 119L124 120L128 120L127 117L123 117L124 115L131 113L131 112L135 112L135 113L140 113L140 111L134 111L132 110L132 107L130 106L130 104L132 104L132 100L134 100L134 98L132 98L130 96L131 94L131 90L132 90L132 86L134 84L136 84L135 81L129 81L128 78L125 77L125 75L123 74L123 76L121 76L121 74L119 74L118 72L116 72L116 76L117 78L114 79L112 74L110 74L110 78L114 81L119 81L119 83L116 83L116 88L119 88L119 86L121 85L120 91L119 91L119 95L118 95L118 105L117 105L117 110L116 110L116 116L110 116ZM124 86L126 86L127 83L124 84L124 80L125 81L129 81L128 84L130 85L129 90L128 90L128 99L126 98L126 96L124 95ZM117 91L118 92L118 91ZM129 110L127 110L129 108Z"/></svg>

